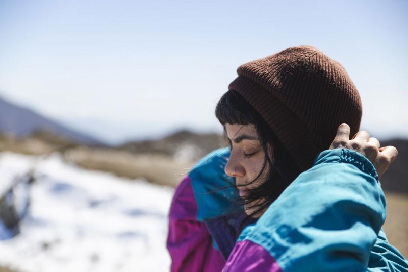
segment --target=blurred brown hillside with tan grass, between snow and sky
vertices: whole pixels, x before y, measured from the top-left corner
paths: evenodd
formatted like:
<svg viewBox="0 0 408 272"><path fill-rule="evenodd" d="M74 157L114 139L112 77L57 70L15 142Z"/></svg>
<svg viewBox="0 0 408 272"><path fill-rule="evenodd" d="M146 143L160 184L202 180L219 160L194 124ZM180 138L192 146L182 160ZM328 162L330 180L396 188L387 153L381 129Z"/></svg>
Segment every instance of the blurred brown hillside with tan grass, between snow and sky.
<svg viewBox="0 0 408 272"><path fill-rule="evenodd" d="M108 171L131 179L144 178L173 187L195 161L221 145L221 135L201 135L186 130L155 141L143 140L120 146L85 145L48 130L37 130L26 137L0 134L0 152L26 155L57 152L66 162L87 169Z"/></svg>

